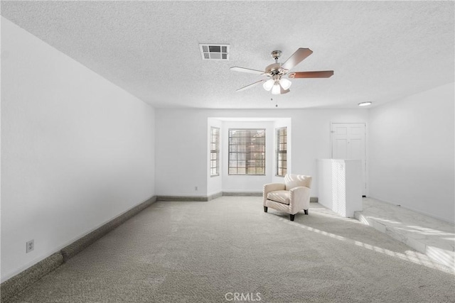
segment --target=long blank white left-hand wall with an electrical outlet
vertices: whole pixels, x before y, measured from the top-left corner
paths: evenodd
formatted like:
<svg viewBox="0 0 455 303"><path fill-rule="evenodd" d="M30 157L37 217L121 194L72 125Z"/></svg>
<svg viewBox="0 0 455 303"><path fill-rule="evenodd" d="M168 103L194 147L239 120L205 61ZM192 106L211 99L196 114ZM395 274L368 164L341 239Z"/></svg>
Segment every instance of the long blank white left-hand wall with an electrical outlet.
<svg viewBox="0 0 455 303"><path fill-rule="evenodd" d="M5 18L1 55L4 281L154 196L154 109Z"/></svg>

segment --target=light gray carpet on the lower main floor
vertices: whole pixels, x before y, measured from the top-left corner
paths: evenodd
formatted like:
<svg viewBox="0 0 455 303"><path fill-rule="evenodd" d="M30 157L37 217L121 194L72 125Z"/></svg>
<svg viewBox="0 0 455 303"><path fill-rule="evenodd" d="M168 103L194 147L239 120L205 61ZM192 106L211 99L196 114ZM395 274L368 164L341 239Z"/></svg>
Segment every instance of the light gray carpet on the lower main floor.
<svg viewBox="0 0 455 303"><path fill-rule="evenodd" d="M317 203L291 222L261 199L156 202L13 302L454 302L425 255Z"/></svg>

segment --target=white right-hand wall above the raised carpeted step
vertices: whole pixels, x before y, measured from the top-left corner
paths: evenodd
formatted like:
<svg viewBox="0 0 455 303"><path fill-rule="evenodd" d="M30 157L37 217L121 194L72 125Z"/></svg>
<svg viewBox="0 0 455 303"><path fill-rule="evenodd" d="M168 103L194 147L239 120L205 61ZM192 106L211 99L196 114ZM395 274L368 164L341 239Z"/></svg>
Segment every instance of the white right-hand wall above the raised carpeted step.
<svg viewBox="0 0 455 303"><path fill-rule="evenodd" d="M454 222L454 84L370 110L370 197Z"/></svg>

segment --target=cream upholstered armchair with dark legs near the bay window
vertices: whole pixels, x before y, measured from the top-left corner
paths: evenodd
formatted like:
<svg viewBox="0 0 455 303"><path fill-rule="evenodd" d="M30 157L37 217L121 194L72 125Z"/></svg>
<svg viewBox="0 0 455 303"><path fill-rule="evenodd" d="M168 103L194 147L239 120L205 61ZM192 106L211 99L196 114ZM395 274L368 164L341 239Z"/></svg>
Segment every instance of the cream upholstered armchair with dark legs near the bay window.
<svg viewBox="0 0 455 303"><path fill-rule="evenodd" d="M290 214L291 221L294 221L296 213L304 210L308 214L310 206L311 176L286 175L283 183L264 184L262 199L264 211L270 207L278 211Z"/></svg>

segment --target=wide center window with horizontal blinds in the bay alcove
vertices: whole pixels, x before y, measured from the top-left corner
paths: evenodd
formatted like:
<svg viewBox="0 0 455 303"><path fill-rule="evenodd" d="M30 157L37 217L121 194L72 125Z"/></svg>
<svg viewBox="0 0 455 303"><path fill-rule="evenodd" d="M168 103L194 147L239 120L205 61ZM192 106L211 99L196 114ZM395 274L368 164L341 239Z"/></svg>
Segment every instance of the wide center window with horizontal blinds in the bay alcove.
<svg viewBox="0 0 455 303"><path fill-rule="evenodd" d="M265 129L229 128L229 175L265 175Z"/></svg>

